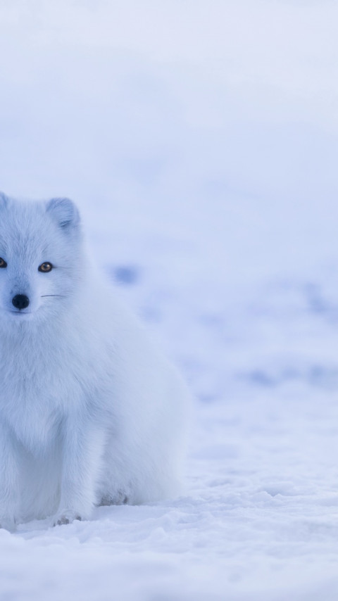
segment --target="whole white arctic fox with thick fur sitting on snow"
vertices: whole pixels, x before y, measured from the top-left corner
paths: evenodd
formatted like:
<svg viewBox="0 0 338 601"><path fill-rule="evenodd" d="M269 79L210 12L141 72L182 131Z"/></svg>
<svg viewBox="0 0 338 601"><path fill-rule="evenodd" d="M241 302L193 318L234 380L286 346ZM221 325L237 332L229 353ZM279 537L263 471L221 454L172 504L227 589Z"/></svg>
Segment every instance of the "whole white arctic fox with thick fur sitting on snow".
<svg viewBox="0 0 338 601"><path fill-rule="evenodd" d="M177 494L189 393L87 257L67 198L0 194L0 524Z"/></svg>

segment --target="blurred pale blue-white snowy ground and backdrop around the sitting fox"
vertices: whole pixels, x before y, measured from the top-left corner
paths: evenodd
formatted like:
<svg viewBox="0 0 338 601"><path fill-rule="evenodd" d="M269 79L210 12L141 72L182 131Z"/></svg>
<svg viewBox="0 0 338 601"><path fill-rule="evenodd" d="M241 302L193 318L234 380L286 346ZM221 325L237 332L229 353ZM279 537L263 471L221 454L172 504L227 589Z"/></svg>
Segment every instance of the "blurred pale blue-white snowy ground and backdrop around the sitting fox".
<svg viewBox="0 0 338 601"><path fill-rule="evenodd" d="M0 530L1 599L337 600L337 16L1 4L1 188L77 201L195 396L184 496Z"/></svg>

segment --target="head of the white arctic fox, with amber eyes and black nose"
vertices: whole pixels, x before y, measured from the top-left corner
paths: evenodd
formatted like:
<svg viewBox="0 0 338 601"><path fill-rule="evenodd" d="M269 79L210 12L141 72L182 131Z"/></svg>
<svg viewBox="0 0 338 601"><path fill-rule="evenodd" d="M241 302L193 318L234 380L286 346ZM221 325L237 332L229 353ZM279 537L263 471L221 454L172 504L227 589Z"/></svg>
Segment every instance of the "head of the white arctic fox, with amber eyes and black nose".
<svg viewBox="0 0 338 601"><path fill-rule="evenodd" d="M53 319L83 272L80 216L68 198L16 201L0 193L0 323Z"/></svg>

